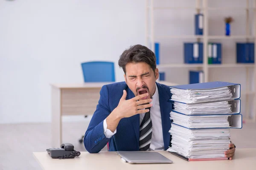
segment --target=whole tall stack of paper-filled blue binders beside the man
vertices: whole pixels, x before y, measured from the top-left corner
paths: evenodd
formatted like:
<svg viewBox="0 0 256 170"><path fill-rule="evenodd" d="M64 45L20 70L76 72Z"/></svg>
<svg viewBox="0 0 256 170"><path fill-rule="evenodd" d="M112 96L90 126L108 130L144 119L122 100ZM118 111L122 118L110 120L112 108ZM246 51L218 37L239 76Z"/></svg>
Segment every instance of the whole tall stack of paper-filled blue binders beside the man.
<svg viewBox="0 0 256 170"><path fill-rule="evenodd" d="M171 86L172 141L168 151L187 160L227 159L230 128L241 128L240 85L207 82Z"/></svg>

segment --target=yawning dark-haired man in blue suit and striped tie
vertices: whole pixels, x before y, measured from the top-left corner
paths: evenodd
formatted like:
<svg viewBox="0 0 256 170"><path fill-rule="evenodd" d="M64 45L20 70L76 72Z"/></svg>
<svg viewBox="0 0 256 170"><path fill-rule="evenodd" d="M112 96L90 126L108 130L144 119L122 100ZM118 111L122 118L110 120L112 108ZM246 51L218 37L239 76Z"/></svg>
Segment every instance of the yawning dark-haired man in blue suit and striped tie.
<svg viewBox="0 0 256 170"><path fill-rule="evenodd" d="M109 151L167 150L170 145L172 105L168 86L157 83L155 54L143 45L125 50L119 59L125 82L104 85L99 104L84 136L84 146ZM225 154L233 157L235 148Z"/></svg>

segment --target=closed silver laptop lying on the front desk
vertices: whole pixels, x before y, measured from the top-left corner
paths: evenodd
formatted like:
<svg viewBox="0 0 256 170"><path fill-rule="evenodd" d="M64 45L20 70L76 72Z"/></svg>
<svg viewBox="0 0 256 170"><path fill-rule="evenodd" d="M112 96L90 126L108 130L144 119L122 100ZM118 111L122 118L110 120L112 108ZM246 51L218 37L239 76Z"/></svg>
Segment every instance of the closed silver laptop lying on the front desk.
<svg viewBox="0 0 256 170"><path fill-rule="evenodd" d="M171 164L172 161L154 151L117 151L121 159L131 164Z"/></svg>

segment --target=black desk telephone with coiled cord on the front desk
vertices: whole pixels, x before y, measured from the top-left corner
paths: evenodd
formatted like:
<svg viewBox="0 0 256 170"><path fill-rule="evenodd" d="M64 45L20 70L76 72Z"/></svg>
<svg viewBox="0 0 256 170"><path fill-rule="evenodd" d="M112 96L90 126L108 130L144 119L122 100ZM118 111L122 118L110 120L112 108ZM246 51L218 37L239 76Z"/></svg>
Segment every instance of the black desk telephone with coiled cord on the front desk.
<svg viewBox="0 0 256 170"><path fill-rule="evenodd" d="M52 158L66 159L66 158L75 158L81 153L74 150L74 145L70 143L61 144L61 148L49 148L47 153Z"/></svg>

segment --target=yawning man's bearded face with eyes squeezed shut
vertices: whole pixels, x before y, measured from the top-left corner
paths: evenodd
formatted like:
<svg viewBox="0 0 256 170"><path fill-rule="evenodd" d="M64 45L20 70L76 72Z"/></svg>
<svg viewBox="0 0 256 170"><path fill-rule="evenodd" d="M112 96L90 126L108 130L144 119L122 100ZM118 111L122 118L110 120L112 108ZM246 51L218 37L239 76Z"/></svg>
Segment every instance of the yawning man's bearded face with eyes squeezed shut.
<svg viewBox="0 0 256 170"><path fill-rule="evenodd" d="M135 96L148 93L143 99L152 98L156 90L156 80L158 79L158 69L153 69L145 62L130 62L125 66L125 82Z"/></svg>

